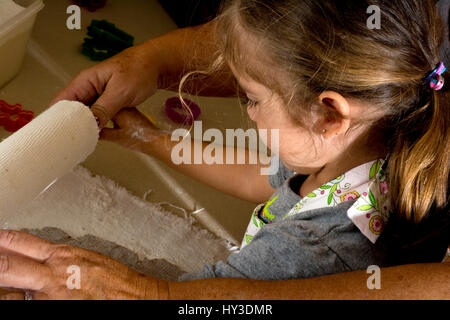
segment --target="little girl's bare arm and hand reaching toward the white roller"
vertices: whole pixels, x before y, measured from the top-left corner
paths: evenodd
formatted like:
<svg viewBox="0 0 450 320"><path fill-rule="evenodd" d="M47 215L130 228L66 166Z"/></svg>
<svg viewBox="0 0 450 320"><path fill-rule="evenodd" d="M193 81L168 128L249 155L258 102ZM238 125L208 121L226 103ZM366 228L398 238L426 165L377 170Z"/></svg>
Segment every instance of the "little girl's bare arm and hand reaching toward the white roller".
<svg viewBox="0 0 450 320"><path fill-rule="evenodd" d="M172 158L174 148L180 148L179 141L171 141L169 133L157 130L153 125L136 109L124 109L114 118L116 129L104 129L101 133L103 140L118 143L126 148L139 152L144 152L156 157L166 163L171 168L190 176L210 187L225 192L237 198L261 203L266 201L275 191L269 184L266 175L261 174L263 168L260 164L211 164L208 165L202 159L201 164L194 163L194 152L200 150L199 156L203 155L204 148L208 145L201 141L186 139L190 146L185 147L185 151L190 150L190 157L186 159L188 163L175 164L176 159ZM138 133L138 134L137 134ZM186 143L186 140L185 142ZM234 153L234 163L237 163L237 153L243 152L249 159L253 151L220 147L223 150L223 163L226 163L226 152ZM176 151L176 149L175 149ZM178 157L179 153L175 152ZM248 162L248 161L247 161Z"/></svg>

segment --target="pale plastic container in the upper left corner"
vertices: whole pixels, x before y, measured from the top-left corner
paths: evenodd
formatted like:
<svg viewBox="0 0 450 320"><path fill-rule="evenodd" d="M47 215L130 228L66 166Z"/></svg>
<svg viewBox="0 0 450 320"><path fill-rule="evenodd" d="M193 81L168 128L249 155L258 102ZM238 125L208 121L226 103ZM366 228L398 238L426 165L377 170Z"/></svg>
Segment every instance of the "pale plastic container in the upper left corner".
<svg viewBox="0 0 450 320"><path fill-rule="evenodd" d="M0 88L20 71L42 0L14 0L25 8L0 25Z"/></svg>

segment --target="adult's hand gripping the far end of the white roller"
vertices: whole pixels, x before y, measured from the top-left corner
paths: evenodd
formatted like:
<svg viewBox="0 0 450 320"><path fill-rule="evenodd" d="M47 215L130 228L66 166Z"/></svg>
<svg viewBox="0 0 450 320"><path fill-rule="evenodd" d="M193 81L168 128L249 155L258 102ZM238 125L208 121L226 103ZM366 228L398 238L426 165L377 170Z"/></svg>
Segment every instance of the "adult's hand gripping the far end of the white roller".
<svg viewBox="0 0 450 320"><path fill-rule="evenodd" d="M161 64L151 43L129 48L78 74L57 94L61 100L80 101L99 120L102 129L122 108L132 108L155 93Z"/></svg>

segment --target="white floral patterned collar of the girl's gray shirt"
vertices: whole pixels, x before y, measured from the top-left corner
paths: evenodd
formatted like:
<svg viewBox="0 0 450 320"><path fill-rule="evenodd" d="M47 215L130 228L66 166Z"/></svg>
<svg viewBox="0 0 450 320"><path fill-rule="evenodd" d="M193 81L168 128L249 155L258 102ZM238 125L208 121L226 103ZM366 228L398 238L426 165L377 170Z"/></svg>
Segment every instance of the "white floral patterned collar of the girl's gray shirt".
<svg viewBox="0 0 450 320"><path fill-rule="evenodd" d="M386 160L376 160L351 169L302 198L286 217L356 200L347 210L347 216L375 243L389 218L385 164Z"/></svg>

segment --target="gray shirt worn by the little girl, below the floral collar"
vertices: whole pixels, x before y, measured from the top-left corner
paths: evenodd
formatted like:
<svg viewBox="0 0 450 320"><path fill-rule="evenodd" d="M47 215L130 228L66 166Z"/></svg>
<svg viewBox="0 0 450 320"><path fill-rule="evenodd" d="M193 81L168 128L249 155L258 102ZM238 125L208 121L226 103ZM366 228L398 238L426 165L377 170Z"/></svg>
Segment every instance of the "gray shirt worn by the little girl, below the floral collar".
<svg viewBox="0 0 450 320"><path fill-rule="evenodd" d="M227 261L206 264L199 272L182 275L181 281L216 277L288 280L387 265L383 241L372 244L347 217L354 201L284 218L301 199L297 191L306 177L279 165L277 174L269 176L276 188L271 200L278 196L270 206L275 216L272 223L265 224L250 244Z"/></svg>

